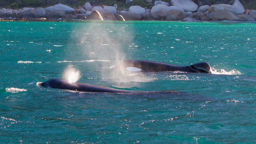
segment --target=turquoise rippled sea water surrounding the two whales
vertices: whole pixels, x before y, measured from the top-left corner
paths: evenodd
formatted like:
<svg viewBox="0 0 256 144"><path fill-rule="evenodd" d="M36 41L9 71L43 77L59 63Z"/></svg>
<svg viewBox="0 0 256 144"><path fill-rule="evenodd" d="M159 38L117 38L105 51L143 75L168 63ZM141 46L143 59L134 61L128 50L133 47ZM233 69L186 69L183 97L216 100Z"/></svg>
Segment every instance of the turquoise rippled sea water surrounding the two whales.
<svg viewBox="0 0 256 144"><path fill-rule="evenodd" d="M0 143L256 143L256 24L16 21L0 28ZM213 74L114 68L129 59L208 62ZM40 86L65 70L80 72L78 82L180 93Z"/></svg>

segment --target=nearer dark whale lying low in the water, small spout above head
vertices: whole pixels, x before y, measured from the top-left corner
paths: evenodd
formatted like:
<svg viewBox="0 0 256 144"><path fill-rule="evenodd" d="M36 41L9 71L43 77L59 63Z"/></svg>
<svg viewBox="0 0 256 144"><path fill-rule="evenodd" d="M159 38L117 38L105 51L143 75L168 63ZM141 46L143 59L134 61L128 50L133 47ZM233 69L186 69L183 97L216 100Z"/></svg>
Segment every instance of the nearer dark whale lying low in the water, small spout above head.
<svg viewBox="0 0 256 144"><path fill-rule="evenodd" d="M134 91L134 90L119 90L115 88L108 88L105 86L96 86L92 84L85 84L80 82L70 83L62 79L50 79L42 82L41 86L45 88L58 88L64 90L74 90L81 92L110 92L110 93L124 93L124 94L158 94L158 93L177 93L178 91Z"/></svg>

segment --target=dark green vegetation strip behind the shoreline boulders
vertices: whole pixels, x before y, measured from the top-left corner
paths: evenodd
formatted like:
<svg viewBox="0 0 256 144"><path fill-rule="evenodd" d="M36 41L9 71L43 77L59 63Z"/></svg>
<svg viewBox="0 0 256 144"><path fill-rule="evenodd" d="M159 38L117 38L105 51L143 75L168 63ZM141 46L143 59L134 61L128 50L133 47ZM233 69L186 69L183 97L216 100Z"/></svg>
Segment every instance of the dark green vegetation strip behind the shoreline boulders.
<svg viewBox="0 0 256 144"><path fill-rule="evenodd" d="M53 6L55 4L65 4L67 6L72 6L77 8L78 6L83 6L86 2L90 2L93 6L98 5L108 5L113 6L118 4L119 8L129 8L130 6L141 6L152 8L154 6L154 1L152 3L147 2L146 0L133 0L126 4L126 0L0 0L0 8L12 8L19 9L23 7L47 7ZM162 0L163 2L170 2L170 0ZM198 6L203 5L212 5L212 4L232 4L234 0L192 0ZM256 0L240 0L245 9L256 9Z"/></svg>

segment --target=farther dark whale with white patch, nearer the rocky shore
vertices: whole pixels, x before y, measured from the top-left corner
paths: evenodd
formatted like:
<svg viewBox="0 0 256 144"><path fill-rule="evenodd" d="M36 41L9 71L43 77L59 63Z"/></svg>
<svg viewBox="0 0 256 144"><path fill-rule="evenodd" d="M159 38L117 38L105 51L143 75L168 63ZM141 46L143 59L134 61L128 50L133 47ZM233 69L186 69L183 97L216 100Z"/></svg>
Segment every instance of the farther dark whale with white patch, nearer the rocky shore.
<svg viewBox="0 0 256 144"><path fill-rule="evenodd" d="M211 74L211 67L207 62L199 62L190 66L178 66L150 60L126 60L116 66L121 70L126 70L128 67L139 68L141 69L140 72L203 72Z"/></svg>

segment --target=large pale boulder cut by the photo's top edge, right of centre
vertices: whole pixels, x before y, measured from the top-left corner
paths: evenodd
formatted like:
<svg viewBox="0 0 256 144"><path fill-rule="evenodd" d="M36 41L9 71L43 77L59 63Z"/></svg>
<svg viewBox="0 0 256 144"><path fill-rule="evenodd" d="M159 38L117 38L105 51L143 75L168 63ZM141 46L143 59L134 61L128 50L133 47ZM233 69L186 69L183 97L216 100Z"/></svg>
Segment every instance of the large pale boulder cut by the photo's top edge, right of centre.
<svg viewBox="0 0 256 144"><path fill-rule="evenodd" d="M198 5L191 0L171 0L171 4L186 12L195 12L198 9Z"/></svg>

